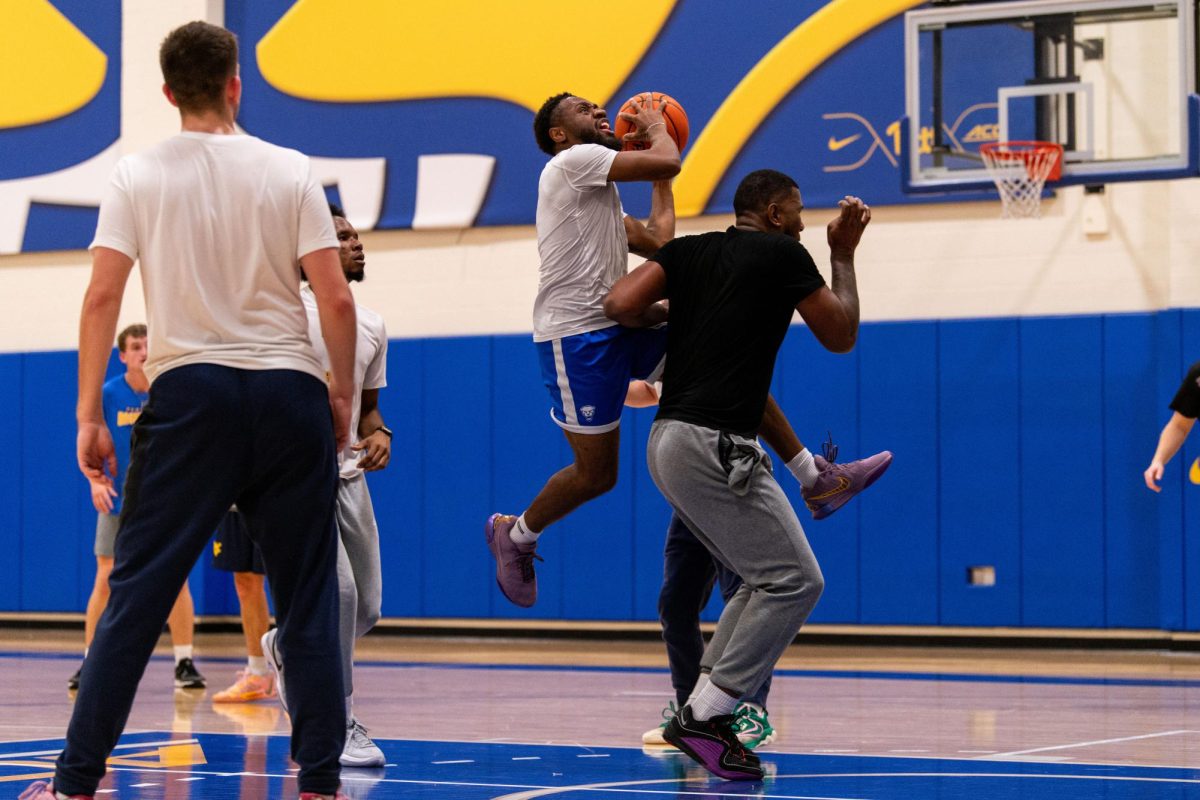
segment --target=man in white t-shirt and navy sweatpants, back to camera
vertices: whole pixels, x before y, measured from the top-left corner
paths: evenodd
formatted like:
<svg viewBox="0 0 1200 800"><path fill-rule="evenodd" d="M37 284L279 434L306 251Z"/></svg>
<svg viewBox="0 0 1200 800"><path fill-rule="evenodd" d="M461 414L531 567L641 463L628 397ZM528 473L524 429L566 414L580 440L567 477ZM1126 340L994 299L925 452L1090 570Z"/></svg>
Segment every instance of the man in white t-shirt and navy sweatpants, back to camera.
<svg viewBox="0 0 1200 800"><path fill-rule="evenodd" d="M115 473L101 384L134 261L150 401L133 427L110 597L66 746L53 784L22 798L95 794L175 596L234 503L275 595L300 796L334 798L346 739L334 505L354 386L354 299L308 160L236 132L233 34L188 23L163 41L160 62L182 132L118 163L91 246L77 408L85 477ZM320 308L328 384L296 261Z"/></svg>

